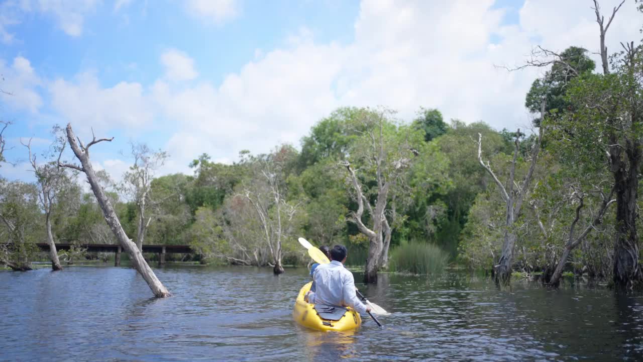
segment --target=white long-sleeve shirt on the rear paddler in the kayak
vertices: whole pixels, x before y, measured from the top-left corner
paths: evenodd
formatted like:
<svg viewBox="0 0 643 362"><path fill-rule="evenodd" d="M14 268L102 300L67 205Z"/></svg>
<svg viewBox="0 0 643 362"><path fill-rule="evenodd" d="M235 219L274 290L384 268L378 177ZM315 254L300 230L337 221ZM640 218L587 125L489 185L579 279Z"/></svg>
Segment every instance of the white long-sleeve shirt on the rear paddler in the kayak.
<svg viewBox="0 0 643 362"><path fill-rule="evenodd" d="M308 294L308 302L313 304L347 305L359 313L366 312L366 305L355 294L353 273L336 260L321 264L312 274L316 291Z"/></svg>

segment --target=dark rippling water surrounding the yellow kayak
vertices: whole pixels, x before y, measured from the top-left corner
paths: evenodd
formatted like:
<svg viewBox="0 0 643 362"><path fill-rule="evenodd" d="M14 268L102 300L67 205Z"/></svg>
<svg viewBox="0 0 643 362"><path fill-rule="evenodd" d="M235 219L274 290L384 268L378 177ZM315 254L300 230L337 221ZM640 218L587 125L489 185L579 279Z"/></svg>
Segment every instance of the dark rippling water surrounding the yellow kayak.
<svg viewBox="0 0 643 362"><path fill-rule="evenodd" d="M305 269L156 269L174 296L150 298L125 267L0 272L0 361L614 361L643 356L643 299L466 274L384 274L358 285L393 312L357 332L291 319ZM361 276L356 274L356 280Z"/></svg>

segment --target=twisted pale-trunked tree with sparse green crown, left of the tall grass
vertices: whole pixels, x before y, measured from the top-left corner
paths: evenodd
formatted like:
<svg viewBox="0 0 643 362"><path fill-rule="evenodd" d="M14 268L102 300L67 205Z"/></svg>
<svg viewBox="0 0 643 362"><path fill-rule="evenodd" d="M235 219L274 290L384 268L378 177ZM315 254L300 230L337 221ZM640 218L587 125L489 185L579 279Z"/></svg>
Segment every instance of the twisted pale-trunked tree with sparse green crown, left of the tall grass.
<svg viewBox="0 0 643 362"><path fill-rule="evenodd" d="M419 132L413 132L408 126L395 125L392 115L392 111L385 109L354 111L349 127L359 137L351 145L348 159L340 163L348 171L352 197L358 204L350 220L368 238L364 274L367 283L375 283L377 271L388 262L391 226L395 225L396 215L394 208L387 209L387 205L395 204L389 204L395 193L392 190L397 189L425 144ZM366 223L372 226L368 227Z"/></svg>

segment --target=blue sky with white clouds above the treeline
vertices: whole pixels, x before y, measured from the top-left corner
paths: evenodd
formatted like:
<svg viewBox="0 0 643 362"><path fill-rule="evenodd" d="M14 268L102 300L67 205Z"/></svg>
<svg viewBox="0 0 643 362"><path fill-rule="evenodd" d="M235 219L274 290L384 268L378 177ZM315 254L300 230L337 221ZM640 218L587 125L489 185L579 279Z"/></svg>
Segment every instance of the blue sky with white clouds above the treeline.
<svg viewBox="0 0 643 362"><path fill-rule="evenodd" d="M617 1L600 1L609 15ZM170 155L159 175L191 174L202 153L299 148L341 106L385 106L410 121L444 118L527 128L534 46L599 48L588 0L0 0L0 117L10 164L30 180L27 151L71 126L96 169L115 180L132 142ZM642 15L626 0L606 39L637 41ZM598 62L597 55L592 57ZM472 155L475 157L475 155ZM71 160L71 156L68 155ZM38 158L39 162L44 160Z"/></svg>

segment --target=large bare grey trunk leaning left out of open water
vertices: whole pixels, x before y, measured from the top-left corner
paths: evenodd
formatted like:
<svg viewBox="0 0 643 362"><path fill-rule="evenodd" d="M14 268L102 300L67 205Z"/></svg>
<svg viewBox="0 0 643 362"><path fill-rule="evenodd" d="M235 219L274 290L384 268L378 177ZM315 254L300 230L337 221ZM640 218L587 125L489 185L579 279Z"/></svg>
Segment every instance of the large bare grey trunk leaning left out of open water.
<svg viewBox="0 0 643 362"><path fill-rule="evenodd" d="M143 254L141 254L141 252L138 250L136 244L132 242L132 240L127 237L127 234L125 234L125 231L123 231L123 227L120 224L120 220L118 220L118 216L116 216L114 207L112 206L111 202L109 202L109 198L107 198L107 196L105 195L103 187L100 186L98 176L96 176L94 167L91 165L91 160L89 160L89 148L91 146L94 146L98 142L111 142L111 140L113 140L114 138L112 137L96 139L96 137L93 137L91 142L89 142L87 146L85 146L80 138L77 138L74 134L73 130L71 129L71 124L68 124L67 139L69 142L69 146L71 146L71 149L74 151L74 155L76 155L78 160L80 160L81 166L62 163L59 163L59 166L77 169L78 171L85 173L85 175L87 176L87 181L89 182L89 185L91 185L91 190L96 196L96 201L98 201L98 204L103 211L107 225L109 225L109 227L112 229L112 232L116 236L116 239L120 243L123 250L125 250L127 254L129 254L129 257L132 260L136 271L138 271L141 276L143 276L143 279L145 279L147 285L149 285L150 289L152 289L152 292L155 296L157 296L158 298L170 296L170 292L165 288L165 286L163 286L163 283L161 283L161 281L156 278L156 274L154 274L154 271L152 271L147 262L145 262Z"/></svg>

